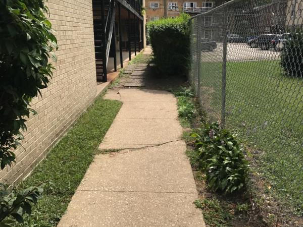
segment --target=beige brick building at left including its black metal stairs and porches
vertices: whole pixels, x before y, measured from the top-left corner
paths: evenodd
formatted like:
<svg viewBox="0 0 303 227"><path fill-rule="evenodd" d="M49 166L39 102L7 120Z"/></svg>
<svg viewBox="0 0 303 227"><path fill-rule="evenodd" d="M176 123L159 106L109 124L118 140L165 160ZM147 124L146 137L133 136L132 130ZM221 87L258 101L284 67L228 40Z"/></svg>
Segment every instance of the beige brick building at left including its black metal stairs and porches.
<svg viewBox="0 0 303 227"><path fill-rule="evenodd" d="M24 179L92 103L102 85L97 79L106 81L117 62L122 65L134 48L143 47L143 4L142 0L48 0L59 45L56 70L48 88L41 90L42 97L32 100L38 115L27 122L22 147L15 151L16 164L0 171L2 182ZM116 53L120 58L113 61ZM110 62L114 62L111 67Z"/></svg>

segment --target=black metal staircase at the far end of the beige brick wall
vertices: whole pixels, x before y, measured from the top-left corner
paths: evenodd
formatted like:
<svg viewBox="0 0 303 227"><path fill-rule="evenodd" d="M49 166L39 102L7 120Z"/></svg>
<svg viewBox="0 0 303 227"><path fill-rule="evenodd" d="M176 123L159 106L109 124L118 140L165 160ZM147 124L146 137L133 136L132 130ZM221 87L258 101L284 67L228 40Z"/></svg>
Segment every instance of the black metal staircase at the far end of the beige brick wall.
<svg viewBox="0 0 303 227"><path fill-rule="evenodd" d="M97 80L107 81L107 63L115 24L115 0L92 0Z"/></svg>

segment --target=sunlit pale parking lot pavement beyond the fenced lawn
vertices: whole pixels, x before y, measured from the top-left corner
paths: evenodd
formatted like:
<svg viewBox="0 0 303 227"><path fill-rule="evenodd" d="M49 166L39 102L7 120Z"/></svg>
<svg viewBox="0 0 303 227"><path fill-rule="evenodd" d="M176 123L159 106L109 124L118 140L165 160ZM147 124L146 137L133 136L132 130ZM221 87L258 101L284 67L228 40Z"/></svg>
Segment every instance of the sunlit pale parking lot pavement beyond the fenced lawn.
<svg viewBox="0 0 303 227"><path fill-rule="evenodd" d="M222 61L223 44L217 43L214 51L202 51L202 62L220 62ZM260 48L250 48L246 43L228 43L227 44L227 61L260 61L260 60L278 60L280 52L274 49L261 50Z"/></svg>

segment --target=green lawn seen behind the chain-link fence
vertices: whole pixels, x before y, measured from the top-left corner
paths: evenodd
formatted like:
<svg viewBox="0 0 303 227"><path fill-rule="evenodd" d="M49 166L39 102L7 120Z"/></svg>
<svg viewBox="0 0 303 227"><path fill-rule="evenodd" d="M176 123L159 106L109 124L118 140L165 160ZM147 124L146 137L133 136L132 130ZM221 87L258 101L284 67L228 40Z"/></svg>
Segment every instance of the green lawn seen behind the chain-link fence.
<svg viewBox="0 0 303 227"><path fill-rule="evenodd" d="M210 121L220 120L222 66L203 63L202 72L203 107ZM261 176L302 215L303 80L284 75L279 61L229 62L226 85L226 127L261 151Z"/></svg>

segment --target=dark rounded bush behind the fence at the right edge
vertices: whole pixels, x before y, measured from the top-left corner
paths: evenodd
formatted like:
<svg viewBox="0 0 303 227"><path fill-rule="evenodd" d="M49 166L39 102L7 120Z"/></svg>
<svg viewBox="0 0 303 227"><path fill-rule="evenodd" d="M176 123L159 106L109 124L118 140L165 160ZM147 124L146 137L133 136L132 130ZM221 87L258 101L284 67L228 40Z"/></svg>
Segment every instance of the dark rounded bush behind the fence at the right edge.
<svg viewBox="0 0 303 227"><path fill-rule="evenodd" d="M281 52L281 66L288 76L302 77L303 73L303 31L290 33Z"/></svg>

